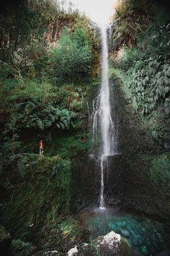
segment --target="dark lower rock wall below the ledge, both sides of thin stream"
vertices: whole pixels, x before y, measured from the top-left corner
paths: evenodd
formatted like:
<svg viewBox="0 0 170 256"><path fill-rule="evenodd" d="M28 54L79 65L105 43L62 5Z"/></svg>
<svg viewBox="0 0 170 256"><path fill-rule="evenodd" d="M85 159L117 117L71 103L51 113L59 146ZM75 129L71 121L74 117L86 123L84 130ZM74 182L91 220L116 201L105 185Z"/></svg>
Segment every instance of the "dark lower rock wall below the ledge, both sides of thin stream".
<svg viewBox="0 0 170 256"><path fill-rule="evenodd" d="M100 160L81 159L74 180L73 204L99 206ZM169 220L170 155L109 156L104 168L104 199L109 207L129 208ZM79 184L79 187L78 187ZM76 206L75 206L76 207ZM128 236L128 234L127 234Z"/></svg>

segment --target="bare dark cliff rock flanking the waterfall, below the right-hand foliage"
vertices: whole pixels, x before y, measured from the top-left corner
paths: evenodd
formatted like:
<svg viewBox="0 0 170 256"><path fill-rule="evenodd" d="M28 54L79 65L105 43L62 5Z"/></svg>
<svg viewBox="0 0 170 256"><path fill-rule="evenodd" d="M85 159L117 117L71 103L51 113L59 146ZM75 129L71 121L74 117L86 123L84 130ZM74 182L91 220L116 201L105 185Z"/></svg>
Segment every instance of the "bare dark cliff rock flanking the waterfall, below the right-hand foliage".
<svg viewBox="0 0 170 256"><path fill-rule="evenodd" d="M137 210L169 225L169 152L156 146L123 86L120 78L110 81L118 154L104 166L104 198L111 208ZM97 155L82 156L74 164L71 205L75 209L99 205L100 164Z"/></svg>

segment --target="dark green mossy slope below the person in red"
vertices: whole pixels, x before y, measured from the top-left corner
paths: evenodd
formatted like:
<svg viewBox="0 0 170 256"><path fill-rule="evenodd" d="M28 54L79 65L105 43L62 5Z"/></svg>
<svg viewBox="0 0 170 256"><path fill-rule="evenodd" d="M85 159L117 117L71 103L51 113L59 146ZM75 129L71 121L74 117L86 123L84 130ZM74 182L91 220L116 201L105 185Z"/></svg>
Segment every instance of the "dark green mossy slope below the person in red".
<svg viewBox="0 0 170 256"><path fill-rule="evenodd" d="M56 155L15 155L9 170L10 203L1 209L9 231L28 238L42 224L69 213L71 162ZM8 179L8 178L7 178Z"/></svg>

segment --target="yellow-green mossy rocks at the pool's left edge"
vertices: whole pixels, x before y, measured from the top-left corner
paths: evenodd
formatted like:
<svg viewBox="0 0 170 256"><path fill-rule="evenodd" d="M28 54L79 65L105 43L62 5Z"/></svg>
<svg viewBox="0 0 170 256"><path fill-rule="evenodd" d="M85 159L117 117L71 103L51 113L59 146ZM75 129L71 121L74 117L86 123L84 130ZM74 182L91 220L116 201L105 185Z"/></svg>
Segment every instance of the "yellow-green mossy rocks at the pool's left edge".
<svg viewBox="0 0 170 256"><path fill-rule="evenodd" d="M58 217L46 224L37 235L39 250L57 250L58 255L66 255L69 249L86 242L86 229L73 216Z"/></svg>

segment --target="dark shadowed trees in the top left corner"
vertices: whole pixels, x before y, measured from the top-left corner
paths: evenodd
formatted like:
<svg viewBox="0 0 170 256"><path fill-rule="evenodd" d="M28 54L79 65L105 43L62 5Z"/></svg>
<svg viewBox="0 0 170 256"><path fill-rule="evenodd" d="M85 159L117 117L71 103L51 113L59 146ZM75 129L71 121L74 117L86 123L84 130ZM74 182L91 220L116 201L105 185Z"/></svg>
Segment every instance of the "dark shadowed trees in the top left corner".
<svg viewBox="0 0 170 256"><path fill-rule="evenodd" d="M46 20L42 16L40 5L37 9L34 7L26 0L20 1L16 6L9 5L1 12L0 54L3 61L14 63L14 53L23 56L27 45L41 40Z"/></svg>

